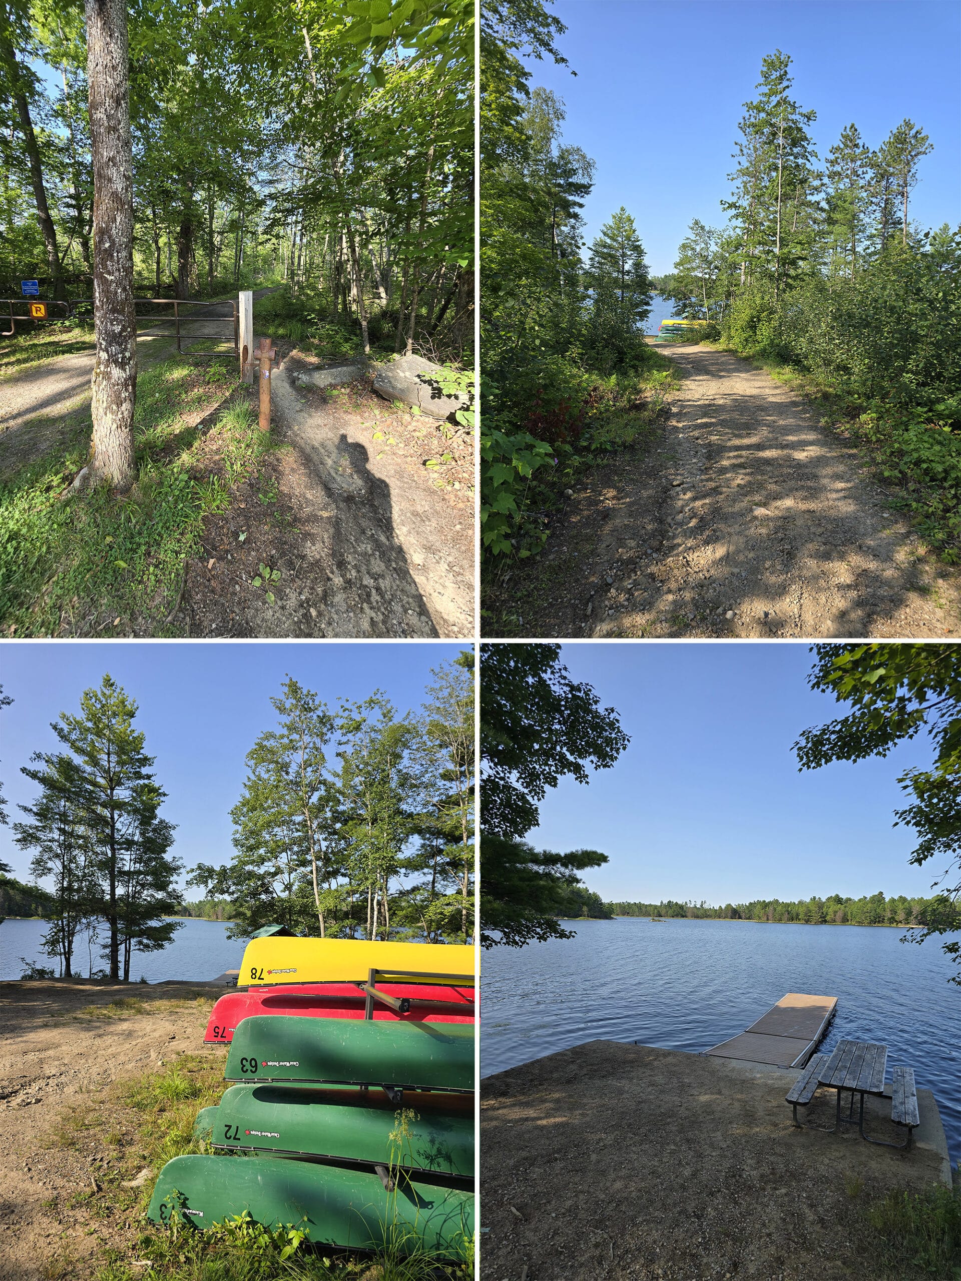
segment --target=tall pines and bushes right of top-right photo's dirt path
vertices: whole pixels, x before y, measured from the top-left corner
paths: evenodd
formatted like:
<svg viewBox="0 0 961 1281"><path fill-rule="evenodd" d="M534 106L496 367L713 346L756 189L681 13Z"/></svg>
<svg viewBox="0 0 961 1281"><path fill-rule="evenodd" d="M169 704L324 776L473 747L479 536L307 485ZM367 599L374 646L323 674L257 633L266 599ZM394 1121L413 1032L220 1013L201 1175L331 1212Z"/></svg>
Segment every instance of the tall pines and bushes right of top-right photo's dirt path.
<svg viewBox="0 0 961 1281"><path fill-rule="evenodd" d="M842 129L819 160L816 113L792 97L791 58L761 64L721 208L693 219L657 281L705 339L814 375L846 428L906 491L921 532L961 539L961 227L923 229L911 192L933 150L923 127Z"/></svg>

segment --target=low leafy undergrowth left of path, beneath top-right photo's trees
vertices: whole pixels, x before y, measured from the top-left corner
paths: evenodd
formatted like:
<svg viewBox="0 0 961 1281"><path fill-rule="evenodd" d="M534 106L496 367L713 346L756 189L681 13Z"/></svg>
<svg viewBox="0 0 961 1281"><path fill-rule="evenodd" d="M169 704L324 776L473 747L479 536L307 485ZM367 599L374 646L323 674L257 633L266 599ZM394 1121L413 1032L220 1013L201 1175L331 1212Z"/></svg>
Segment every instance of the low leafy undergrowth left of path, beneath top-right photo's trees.
<svg viewBox="0 0 961 1281"><path fill-rule="evenodd" d="M632 373L602 375L555 359L518 378L510 397L482 386L486 573L497 576L539 552L565 488L612 453L651 439L678 387L677 365L652 348Z"/></svg>

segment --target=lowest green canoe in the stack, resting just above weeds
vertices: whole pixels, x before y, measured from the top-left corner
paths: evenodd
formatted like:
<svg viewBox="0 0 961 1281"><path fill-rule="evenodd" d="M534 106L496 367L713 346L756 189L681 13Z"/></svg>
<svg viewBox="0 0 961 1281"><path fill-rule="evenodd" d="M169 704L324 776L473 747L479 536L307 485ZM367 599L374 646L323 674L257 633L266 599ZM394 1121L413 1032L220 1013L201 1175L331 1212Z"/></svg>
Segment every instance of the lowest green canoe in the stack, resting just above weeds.
<svg viewBox="0 0 961 1281"><path fill-rule="evenodd" d="M197 1227L245 1211L265 1227L300 1227L311 1241L369 1250L464 1254L474 1232L472 1193L402 1180L387 1191L378 1175L264 1157L174 1157L160 1171L147 1217L174 1209Z"/></svg>

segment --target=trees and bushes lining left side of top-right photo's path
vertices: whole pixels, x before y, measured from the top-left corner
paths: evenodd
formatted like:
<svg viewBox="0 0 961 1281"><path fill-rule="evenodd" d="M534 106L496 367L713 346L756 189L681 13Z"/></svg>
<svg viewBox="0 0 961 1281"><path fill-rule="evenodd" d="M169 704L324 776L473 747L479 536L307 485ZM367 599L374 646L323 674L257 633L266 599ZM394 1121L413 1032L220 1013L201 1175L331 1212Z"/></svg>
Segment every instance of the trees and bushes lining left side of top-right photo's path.
<svg viewBox="0 0 961 1281"><path fill-rule="evenodd" d="M564 104L519 54L559 63L539 0L482 6L481 537L488 564L545 542L534 484L600 447L601 411L634 406L661 357L643 342L651 282L630 213L583 245L595 164L563 138ZM606 446L605 446L606 447Z"/></svg>

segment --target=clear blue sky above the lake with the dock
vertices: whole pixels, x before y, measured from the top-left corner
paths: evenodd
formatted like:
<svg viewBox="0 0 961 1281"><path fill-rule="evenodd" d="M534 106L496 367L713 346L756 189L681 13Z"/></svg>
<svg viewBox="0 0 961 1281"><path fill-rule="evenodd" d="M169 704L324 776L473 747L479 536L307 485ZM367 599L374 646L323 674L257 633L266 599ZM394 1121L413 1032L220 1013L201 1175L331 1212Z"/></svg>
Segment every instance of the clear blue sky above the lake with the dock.
<svg viewBox="0 0 961 1281"><path fill-rule="evenodd" d="M565 644L632 740L589 784L548 792L530 842L606 853L584 876L606 899L930 893L933 865L910 867L914 835L892 828L897 776L930 760L926 740L800 774L800 731L843 715L807 688L811 658L803 643Z"/></svg>

